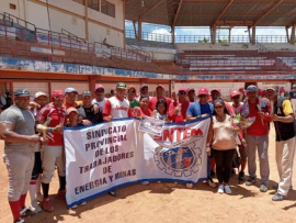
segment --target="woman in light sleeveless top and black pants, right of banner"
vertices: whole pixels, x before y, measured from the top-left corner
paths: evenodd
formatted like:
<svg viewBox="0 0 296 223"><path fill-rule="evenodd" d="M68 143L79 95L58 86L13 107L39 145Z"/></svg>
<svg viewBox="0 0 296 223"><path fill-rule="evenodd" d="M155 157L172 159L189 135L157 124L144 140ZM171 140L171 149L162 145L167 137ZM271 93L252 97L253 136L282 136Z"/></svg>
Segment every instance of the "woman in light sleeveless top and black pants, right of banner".
<svg viewBox="0 0 296 223"><path fill-rule="evenodd" d="M231 174L232 158L236 153L237 142L234 137L236 131L232 126L231 116L221 99L214 101L213 121L208 131L208 144L216 160L216 172L219 181L218 193L231 193L228 185ZM240 131L239 129L237 131Z"/></svg>

